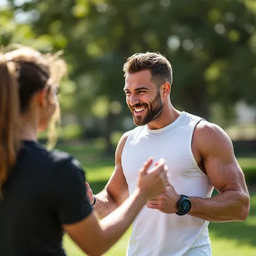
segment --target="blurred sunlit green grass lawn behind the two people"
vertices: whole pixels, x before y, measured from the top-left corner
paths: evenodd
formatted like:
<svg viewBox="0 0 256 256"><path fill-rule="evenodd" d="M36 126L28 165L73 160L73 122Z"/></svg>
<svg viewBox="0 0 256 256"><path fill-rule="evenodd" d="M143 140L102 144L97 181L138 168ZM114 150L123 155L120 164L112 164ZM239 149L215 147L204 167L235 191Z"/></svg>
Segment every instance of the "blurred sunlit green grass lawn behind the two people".
<svg viewBox="0 0 256 256"><path fill-rule="evenodd" d="M81 161L86 169L86 179L90 182L93 193L104 188L114 168L114 157L102 156L102 147L93 145L68 145L61 150L70 152ZM250 175L256 174L256 157L238 158L241 167ZM249 175L248 175L249 177ZM251 177L251 176L250 176ZM256 255L256 192L251 195L251 211L244 222L210 223L210 238L213 256L254 256ZM125 255L131 227L105 256ZM69 256L84 256L76 244L66 235L64 248Z"/></svg>

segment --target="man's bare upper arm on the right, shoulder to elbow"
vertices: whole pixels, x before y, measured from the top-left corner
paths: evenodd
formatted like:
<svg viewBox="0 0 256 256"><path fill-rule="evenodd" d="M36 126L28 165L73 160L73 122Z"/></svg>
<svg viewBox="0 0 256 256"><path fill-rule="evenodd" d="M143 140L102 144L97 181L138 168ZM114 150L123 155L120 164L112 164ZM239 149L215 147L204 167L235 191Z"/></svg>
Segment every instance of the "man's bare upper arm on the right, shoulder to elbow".
<svg viewBox="0 0 256 256"><path fill-rule="evenodd" d="M246 189L244 174L234 156L232 141L218 125L205 125L201 131L204 168L212 186L219 192ZM206 140L205 140L206 139Z"/></svg>

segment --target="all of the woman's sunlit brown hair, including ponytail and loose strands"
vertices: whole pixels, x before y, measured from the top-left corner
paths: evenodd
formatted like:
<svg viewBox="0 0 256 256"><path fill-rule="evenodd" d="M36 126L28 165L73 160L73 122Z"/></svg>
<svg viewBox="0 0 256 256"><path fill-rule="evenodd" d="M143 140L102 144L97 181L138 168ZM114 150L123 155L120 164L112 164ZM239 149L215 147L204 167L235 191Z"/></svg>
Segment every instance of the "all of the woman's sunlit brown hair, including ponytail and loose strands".
<svg viewBox="0 0 256 256"><path fill-rule="evenodd" d="M28 110L34 93L45 86L58 86L65 73L66 64L59 54L40 54L22 45L0 54L0 195L20 148L19 116ZM54 145L54 140L51 125L49 143Z"/></svg>

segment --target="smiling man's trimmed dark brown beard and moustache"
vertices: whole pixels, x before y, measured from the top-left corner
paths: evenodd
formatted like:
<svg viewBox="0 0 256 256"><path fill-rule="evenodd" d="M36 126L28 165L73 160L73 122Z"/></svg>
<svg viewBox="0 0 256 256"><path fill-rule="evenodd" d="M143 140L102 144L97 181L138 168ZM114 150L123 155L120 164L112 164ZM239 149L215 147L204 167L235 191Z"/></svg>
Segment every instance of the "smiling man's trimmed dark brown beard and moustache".
<svg viewBox="0 0 256 256"><path fill-rule="evenodd" d="M141 108L141 107L147 107L145 111L147 111L147 114L143 114L144 116L136 116L134 115L134 108ZM133 117L133 122L135 125L141 126L141 125L146 125L149 122L152 122L156 118L158 118L162 111L163 111L163 102L161 100L161 95L160 92L157 92L157 95L152 102L149 104L136 104L131 108L129 106L131 112L132 112L132 117Z"/></svg>

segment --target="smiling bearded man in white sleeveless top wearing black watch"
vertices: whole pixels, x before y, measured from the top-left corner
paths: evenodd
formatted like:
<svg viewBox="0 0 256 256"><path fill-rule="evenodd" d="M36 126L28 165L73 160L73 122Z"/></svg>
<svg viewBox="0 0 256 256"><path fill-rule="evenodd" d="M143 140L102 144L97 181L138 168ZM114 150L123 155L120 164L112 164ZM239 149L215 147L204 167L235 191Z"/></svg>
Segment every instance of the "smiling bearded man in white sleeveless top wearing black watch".
<svg viewBox="0 0 256 256"><path fill-rule="evenodd" d="M131 256L209 256L209 221L244 221L250 200L232 142L218 127L170 100L172 66L155 52L132 55L124 65L125 95L134 124L116 148L115 170L93 196L103 218L131 195L148 156L166 159L166 192L152 198L133 224ZM185 92L186 93L186 92ZM212 196L216 188L219 194Z"/></svg>

